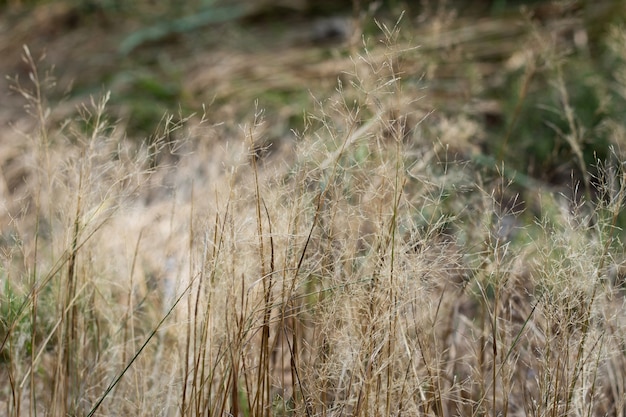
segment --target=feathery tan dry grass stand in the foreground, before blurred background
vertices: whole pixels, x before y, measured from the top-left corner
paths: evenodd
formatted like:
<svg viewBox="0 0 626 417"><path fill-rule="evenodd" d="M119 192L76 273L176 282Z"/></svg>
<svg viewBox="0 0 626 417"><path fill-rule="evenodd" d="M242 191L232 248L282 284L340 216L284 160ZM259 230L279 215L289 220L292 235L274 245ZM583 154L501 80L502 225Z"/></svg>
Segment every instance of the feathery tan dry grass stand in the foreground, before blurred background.
<svg viewBox="0 0 626 417"><path fill-rule="evenodd" d="M25 50L0 413L624 415L621 154L595 202L516 201L381 31L280 157L258 109L238 137L172 117L137 144L106 96L57 126Z"/></svg>

